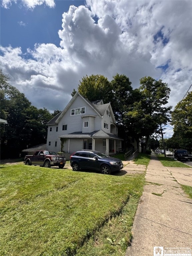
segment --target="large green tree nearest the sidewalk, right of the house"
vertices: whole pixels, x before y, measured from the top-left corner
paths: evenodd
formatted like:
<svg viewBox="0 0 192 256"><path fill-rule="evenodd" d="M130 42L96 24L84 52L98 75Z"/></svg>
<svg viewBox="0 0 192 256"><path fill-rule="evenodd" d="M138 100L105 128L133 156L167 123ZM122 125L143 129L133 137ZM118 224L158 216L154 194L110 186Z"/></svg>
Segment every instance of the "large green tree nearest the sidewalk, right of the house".
<svg viewBox="0 0 192 256"><path fill-rule="evenodd" d="M139 100L134 102L133 108L127 113L127 123L135 138L145 138L144 152L147 149L149 137L159 131L161 124L170 119L171 106L168 103L170 88L162 80L152 77L140 79Z"/></svg>

